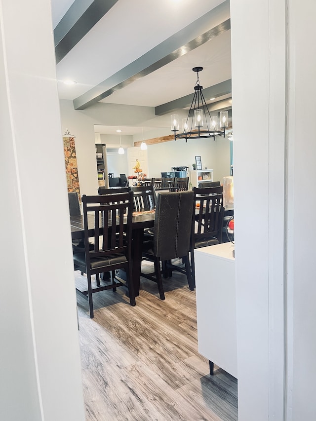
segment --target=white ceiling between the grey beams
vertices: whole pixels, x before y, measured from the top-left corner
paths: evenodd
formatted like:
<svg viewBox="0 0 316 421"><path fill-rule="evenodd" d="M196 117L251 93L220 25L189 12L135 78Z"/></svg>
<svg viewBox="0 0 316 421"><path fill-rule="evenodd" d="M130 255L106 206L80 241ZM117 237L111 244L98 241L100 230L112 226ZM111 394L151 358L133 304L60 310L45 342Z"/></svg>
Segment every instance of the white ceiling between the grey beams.
<svg viewBox="0 0 316 421"><path fill-rule="evenodd" d="M51 0L54 28L69 7L74 3L72 6L74 8L79 5L79 1L87 5L94 2L94 0ZM172 37L180 45L180 54L178 53L175 59L158 66L157 70L143 77L138 75L135 77L136 80L120 89L115 88L114 92L101 99L101 102L157 107L189 94L193 96L196 73L192 72L192 68L195 66L204 68L199 74L204 89L231 79L230 30L223 31L188 52L186 52L187 47L181 45L182 33L177 34L198 20L198 24L192 24L197 26L194 34L198 39L205 31L227 21L229 0L224 2L221 0L115 2L114 0L112 2L115 3L113 7L57 64L58 91L61 99L75 100L90 89L96 89L95 86L103 81L106 81L108 86L113 78L120 75L118 72L121 69L130 66L148 51L155 56L165 48L163 42ZM211 10L213 11L208 13ZM69 14L70 12L68 16ZM150 58L155 63L155 57ZM65 79L75 80L77 84L65 85L63 83ZM230 94L226 93L225 97L229 96ZM205 99L209 100L206 97ZM215 101L218 100L219 98L216 98ZM109 133L113 129L109 128ZM135 130L139 132L141 128L130 127L128 130L124 128L124 134L135 134ZM107 133L107 128L103 127L101 130L99 127L98 132Z"/></svg>

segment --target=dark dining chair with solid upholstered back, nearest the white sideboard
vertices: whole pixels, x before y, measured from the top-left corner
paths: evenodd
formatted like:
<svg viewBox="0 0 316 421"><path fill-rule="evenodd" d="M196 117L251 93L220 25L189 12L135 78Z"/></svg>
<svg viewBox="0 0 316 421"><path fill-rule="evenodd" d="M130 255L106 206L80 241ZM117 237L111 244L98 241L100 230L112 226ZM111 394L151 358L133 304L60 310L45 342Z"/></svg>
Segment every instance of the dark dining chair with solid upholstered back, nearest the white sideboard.
<svg viewBox="0 0 316 421"><path fill-rule="evenodd" d="M161 300L165 299L160 262L181 258L189 288L194 289L189 263L190 229L192 224L193 191L161 192L158 194L154 234L143 242L144 259L154 262L154 272L141 273L158 284Z"/></svg>

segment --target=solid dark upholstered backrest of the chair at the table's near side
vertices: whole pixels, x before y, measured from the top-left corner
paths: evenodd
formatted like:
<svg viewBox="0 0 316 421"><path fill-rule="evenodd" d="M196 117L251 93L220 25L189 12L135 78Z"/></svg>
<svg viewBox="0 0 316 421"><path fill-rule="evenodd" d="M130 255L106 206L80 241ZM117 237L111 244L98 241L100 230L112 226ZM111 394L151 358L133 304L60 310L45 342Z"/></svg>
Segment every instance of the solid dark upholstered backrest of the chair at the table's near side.
<svg viewBox="0 0 316 421"><path fill-rule="evenodd" d="M153 251L161 261L183 257L189 252L193 197L193 191L158 194Z"/></svg>

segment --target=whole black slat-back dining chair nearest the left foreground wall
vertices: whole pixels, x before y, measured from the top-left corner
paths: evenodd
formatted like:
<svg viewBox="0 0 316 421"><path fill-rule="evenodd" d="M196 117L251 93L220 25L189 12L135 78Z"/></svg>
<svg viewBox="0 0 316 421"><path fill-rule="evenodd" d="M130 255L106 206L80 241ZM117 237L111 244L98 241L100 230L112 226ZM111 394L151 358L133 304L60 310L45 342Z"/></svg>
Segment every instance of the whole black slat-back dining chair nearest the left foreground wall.
<svg viewBox="0 0 316 421"><path fill-rule="evenodd" d="M133 192L116 194L120 200L113 203L113 195L82 196L84 221L84 250L74 254L74 268L87 274L88 289L77 291L89 302L90 317L93 318L92 295L96 292L127 286L130 305L135 306L132 282L131 225L133 213ZM89 224L90 223L90 224ZM113 227L115 227L113 229ZM91 242L93 239L93 248ZM115 270L124 268L126 283L118 279ZM111 272L110 284L100 285L100 273ZM92 275L99 281L92 286Z"/></svg>

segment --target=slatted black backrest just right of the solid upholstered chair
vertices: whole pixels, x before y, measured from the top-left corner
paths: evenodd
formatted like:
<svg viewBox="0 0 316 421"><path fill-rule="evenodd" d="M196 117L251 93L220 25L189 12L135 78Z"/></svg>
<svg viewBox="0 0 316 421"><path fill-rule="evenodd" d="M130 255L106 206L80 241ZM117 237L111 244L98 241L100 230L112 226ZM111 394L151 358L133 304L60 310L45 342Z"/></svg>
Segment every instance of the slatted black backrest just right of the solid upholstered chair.
<svg viewBox="0 0 316 421"><path fill-rule="evenodd" d="M222 242L222 227L224 218L223 188L204 187L193 188L193 218L192 239L216 237Z"/></svg>

